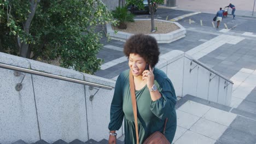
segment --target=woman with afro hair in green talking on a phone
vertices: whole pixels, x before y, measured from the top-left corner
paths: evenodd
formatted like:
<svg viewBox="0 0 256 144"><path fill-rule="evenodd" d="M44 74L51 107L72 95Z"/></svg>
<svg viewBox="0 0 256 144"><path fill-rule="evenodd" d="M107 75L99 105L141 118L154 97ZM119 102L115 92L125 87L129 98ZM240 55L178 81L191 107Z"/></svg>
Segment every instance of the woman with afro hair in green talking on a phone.
<svg viewBox="0 0 256 144"><path fill-rule="evenodd" d="M136 130L132 110L129 72L132 71L137 101L139 143L155 131L163 131L170 143L173 140L177 118L174 106L176 94L172 82L166 74L154 68L159 59L159 48L155 38L137 34L129 38L124 46L124 53L129 58L129 70L118 76L114 97L110 107L109 143L116 143L116 133L123 122L125 143L136 143ZM146 65L149 70L146 70Z"/></svg>

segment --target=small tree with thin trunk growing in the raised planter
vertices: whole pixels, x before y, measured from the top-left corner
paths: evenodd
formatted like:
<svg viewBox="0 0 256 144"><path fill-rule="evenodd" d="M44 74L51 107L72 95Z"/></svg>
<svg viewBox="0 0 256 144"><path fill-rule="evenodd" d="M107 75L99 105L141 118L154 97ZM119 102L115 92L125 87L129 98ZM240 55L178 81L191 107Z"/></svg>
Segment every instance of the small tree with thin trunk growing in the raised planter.
<svg viewBox="0 0 256 144"><path fill-rule="evenodd" d="M139 9L144 9L143 0L126 0L126 5L137 5ZM155 32L155 9L158 7L158 4L164 4L164 0L148 0L148 8L151 19L151 32Z"/></svg>

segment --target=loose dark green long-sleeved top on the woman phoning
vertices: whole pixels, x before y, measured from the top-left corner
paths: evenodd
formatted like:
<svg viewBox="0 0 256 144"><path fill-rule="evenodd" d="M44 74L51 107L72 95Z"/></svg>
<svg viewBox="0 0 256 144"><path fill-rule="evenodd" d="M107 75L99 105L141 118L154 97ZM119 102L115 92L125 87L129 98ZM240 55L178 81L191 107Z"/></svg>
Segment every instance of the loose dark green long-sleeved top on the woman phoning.
<svg viewBox="0 0 256 144"><path fill-rule="evenodd" d="M136 130L132 111L132 102L129 85L129 71L125 70L118 76L115 83L115 91L110 107L110 123L108 129L119 130L124 118L125 126L125 143L136 144ZM139 143L155 131L164 130L165 118L168 118L166 124L165 136L170 141L173 140L177 118L175 111L176 94L172 82L166 74L154 69L155 85L162 97L156 101L152 101L147 85L136 93L137 101L137 117L138 117L138 133Z"/></svg>

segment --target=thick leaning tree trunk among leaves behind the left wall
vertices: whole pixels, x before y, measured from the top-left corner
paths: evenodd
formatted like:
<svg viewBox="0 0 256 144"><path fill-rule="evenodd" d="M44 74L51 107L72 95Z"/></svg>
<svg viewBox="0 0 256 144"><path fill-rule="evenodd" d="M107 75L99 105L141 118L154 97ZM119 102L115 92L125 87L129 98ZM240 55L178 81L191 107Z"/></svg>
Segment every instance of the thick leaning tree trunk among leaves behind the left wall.
<svg viewBox="0 0 256 144"><path fill-rule="evenodd" d="M37 1L30 0L30 4L31 4L31 5L30 5L30 11L31 11L31 13L28 14L26 23L25 23L25 25L24 25L24 27L23 27L23 28L24 28L24 31L25 31L25 33L26 33L27 35L30 34L30 25L31 25L31 22L32 22L32 20L33 20L34 14L36 13L37 4L38 4L39 2L40 2L40 0L37 0ZM23 43L20 44L19 38L17 38L17 40L18 40L18 43L19 43L19 45L20 45L20 56L21 56L21 57L29 58L29 56L27 55L29 44L28 44L28 43L25 43L25 42L23 42ZM28 56L28 57L27 57L27 56Z"/></svg>

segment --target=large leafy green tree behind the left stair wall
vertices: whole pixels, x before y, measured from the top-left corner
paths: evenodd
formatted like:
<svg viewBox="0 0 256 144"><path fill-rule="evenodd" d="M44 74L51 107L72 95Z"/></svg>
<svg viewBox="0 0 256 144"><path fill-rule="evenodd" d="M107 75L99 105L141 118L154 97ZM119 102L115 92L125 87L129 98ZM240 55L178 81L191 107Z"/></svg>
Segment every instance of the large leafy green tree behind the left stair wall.
<svg viewBox="0 0 256 144"><path fill-rule="evenodd" d="M0 51L32 59L61 57L62 67L89 74L100 68L101 26L115 23L102 1L2 0L0 8Z"/></svg>

